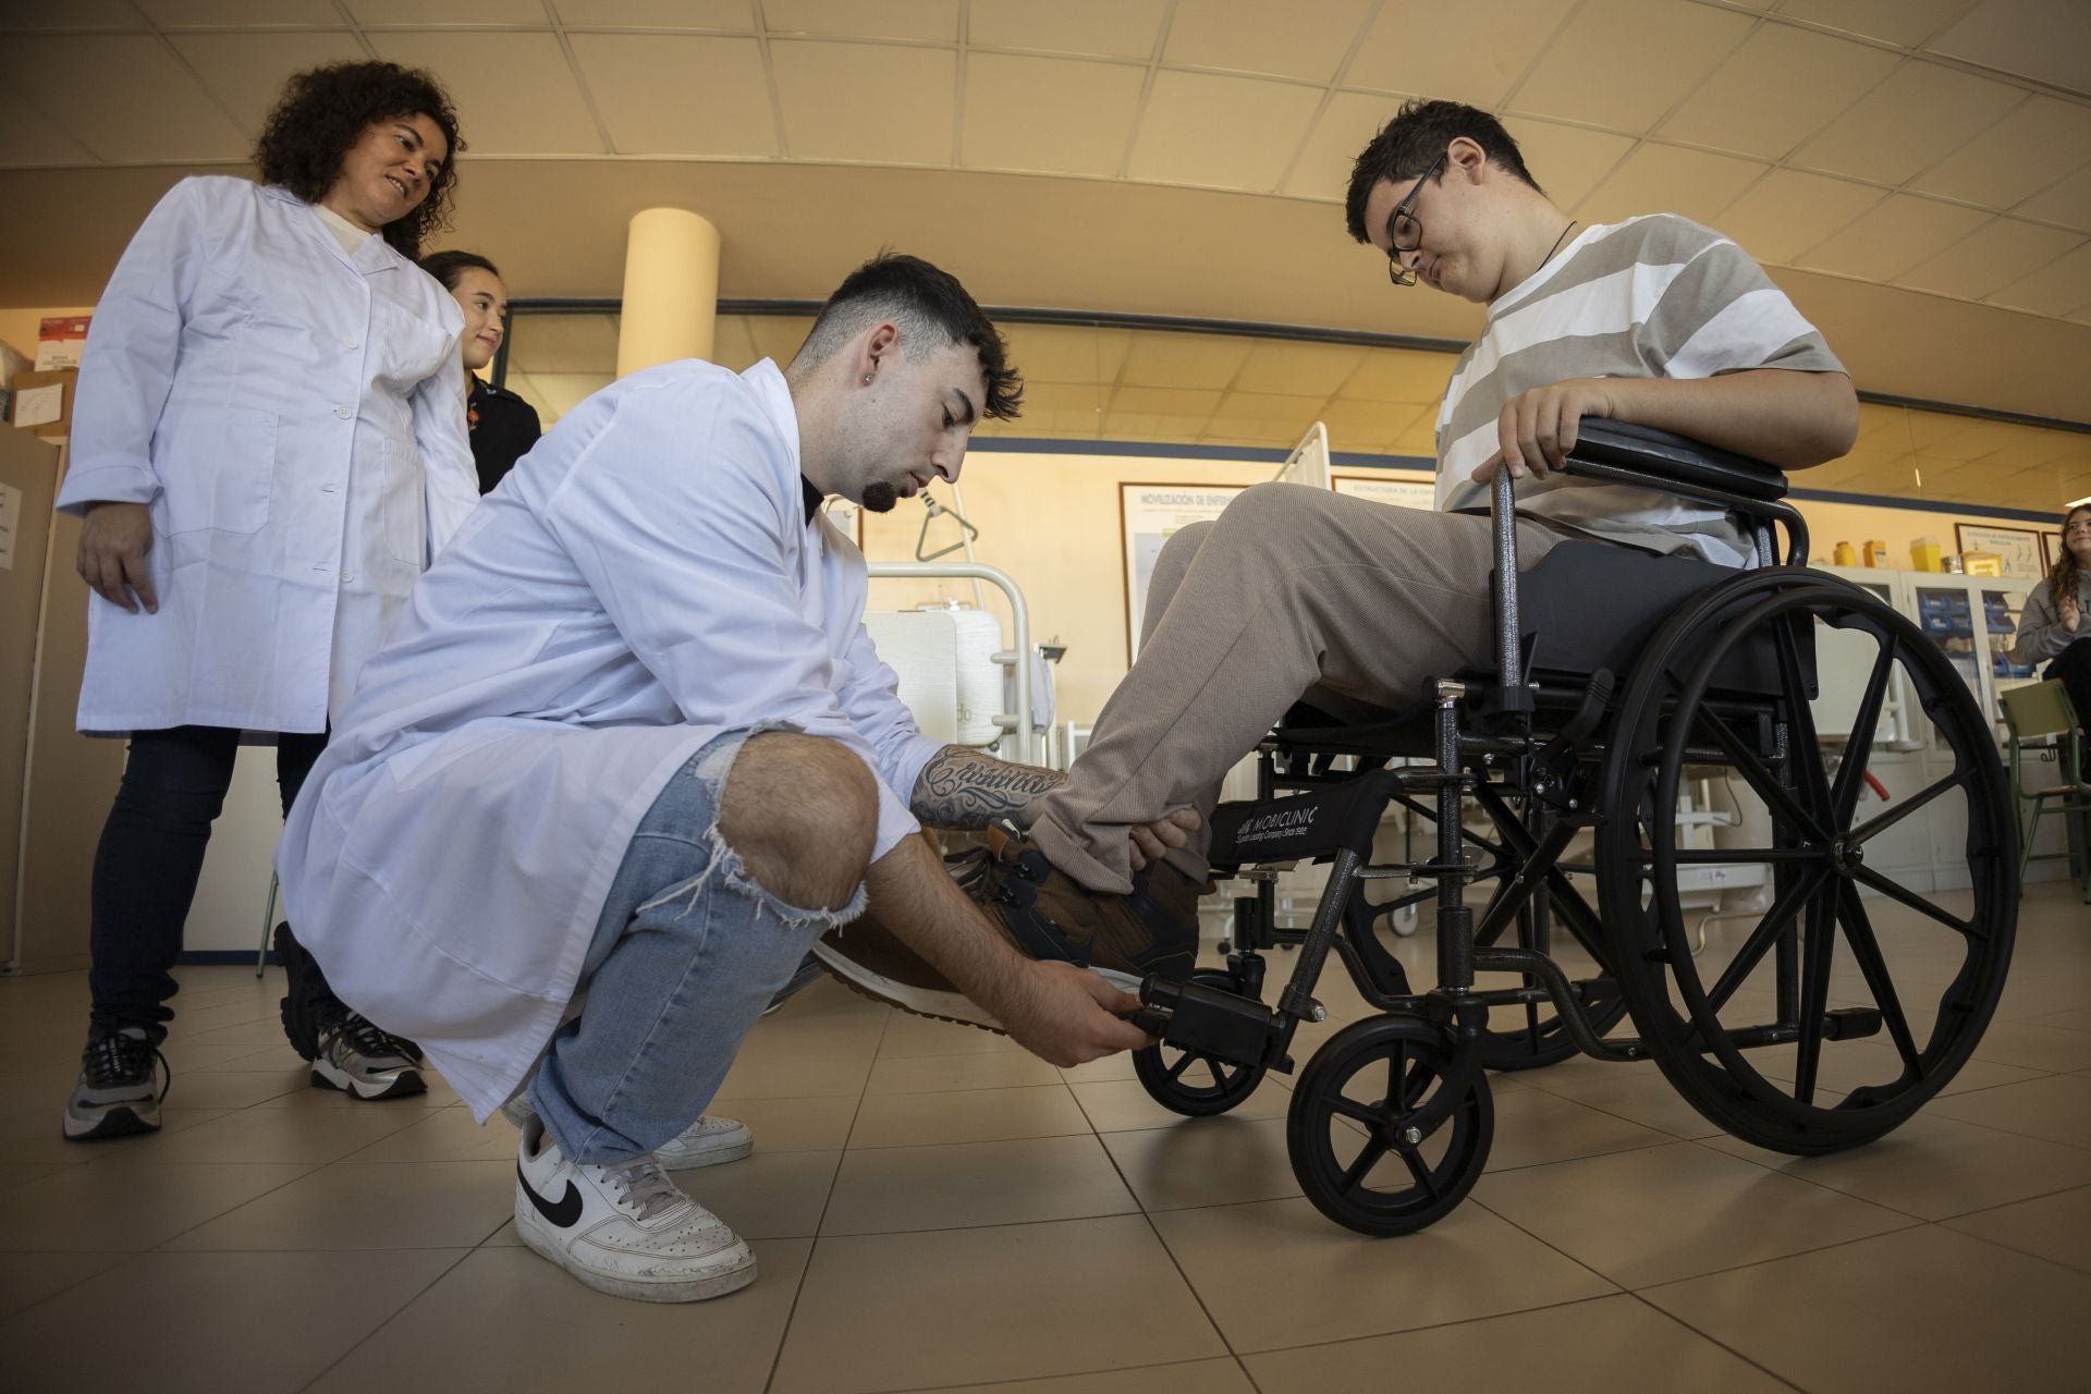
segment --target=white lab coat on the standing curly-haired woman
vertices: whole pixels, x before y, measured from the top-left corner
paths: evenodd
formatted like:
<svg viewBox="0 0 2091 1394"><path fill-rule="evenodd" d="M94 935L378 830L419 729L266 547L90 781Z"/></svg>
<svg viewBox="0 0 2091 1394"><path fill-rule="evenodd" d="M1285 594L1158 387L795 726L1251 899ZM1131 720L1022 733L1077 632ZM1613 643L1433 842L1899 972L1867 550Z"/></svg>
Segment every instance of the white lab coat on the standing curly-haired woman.
<svg viewBox="0 0 2091 1394"><path fill-rule="evenodd" d="M479 502L462 332L289 190L167 190L94 307L59 489L151 506L159 614L90 602L79 729L326 729Z"/></svg>

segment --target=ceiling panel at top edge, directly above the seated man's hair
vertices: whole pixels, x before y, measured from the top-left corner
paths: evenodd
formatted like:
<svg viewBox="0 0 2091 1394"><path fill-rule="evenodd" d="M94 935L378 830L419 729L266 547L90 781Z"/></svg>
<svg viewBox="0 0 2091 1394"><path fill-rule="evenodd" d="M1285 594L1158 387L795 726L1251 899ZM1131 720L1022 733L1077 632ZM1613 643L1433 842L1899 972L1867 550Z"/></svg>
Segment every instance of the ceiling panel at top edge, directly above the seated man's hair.
<svg viewBox="0 0 2091 1394"><path fill-rule="evenodd" d="M1349 88L1426 92L1453 102L1497 107L1547 46L1575 0L1466 0L1460 42L1437 42L1434 19L1407 4L1382 4L1351 59Z"/></svg>

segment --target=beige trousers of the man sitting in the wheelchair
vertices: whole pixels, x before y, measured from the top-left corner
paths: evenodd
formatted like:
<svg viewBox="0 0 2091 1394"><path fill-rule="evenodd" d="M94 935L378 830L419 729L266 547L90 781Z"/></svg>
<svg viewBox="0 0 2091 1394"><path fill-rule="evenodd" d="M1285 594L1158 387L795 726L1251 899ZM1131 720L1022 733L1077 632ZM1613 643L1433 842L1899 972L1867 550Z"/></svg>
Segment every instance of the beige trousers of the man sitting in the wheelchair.
<svg viewBox="0 0 2091 1394"><path fill-rule="evenodd" d="M1518 568L1566 535L1522 518ZM1365 717L1493 663L1493 562L1487 516L1305 485L1257 485L1177 531L1154 562L1140 658L1069 782L1025 809L1031 836L1089 890L1131 890L1129 828L1209 815L1292 702ZM1169 859L1204 880L1204 846Z"/></svg>

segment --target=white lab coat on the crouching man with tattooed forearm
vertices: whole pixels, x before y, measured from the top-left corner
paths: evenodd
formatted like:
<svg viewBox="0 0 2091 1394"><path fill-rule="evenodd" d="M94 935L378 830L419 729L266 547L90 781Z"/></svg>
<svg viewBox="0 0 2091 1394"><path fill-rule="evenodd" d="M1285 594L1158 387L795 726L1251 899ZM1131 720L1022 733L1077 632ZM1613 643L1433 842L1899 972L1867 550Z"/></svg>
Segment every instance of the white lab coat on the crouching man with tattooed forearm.
<svg viewBox="0 0 2091 1394"><path fill-rule="evenodd" d="M807 518L767 359L596 393L414 587L284 823L299 943L485 1118L575 995L640 817L713 736L788 725L880 784L876 853L941 748L864 633L864 556Z"/></svg>

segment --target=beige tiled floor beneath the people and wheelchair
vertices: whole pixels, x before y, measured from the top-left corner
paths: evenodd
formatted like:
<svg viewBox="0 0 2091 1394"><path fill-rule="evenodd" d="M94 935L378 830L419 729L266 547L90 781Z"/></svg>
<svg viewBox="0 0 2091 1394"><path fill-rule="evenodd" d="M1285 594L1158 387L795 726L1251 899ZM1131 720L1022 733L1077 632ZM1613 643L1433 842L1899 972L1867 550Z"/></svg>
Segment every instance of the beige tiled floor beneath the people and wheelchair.
<svg viewBox="0 0 2091 1394"><path fill-rule="evenodd" d="M1290 1081L1190 1122L1125 1058L1054 1070L822 984L721 1091L755 1156L686 1175L761 1258L692 1306L521 1248L514 1133L450 1089L307 1089L276 974L182 980L165 1133L98 1145L59 1139L84 974L0 980L8 1394L2091 1386L2091 911L2053 884L1976 1060L1888 1139L1759 1152L1652 1066L1575 1060L1497 1076L1472 1198L1384 1241L1301 1198Z"/></svg>

